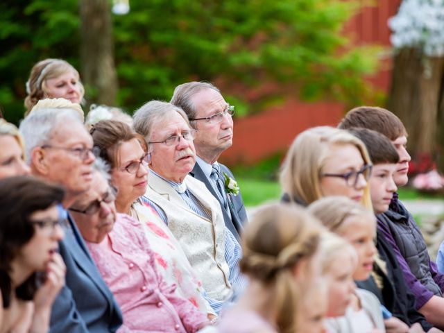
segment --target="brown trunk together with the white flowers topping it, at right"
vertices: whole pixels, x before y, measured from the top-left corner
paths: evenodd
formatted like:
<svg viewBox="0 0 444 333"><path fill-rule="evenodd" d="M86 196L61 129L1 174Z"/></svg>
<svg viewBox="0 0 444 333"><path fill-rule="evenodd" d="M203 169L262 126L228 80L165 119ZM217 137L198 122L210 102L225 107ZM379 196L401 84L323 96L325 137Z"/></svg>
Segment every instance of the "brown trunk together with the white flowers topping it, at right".
<svg viewBox="0 0 444 333"><path fill-rule="evenodd" d="M411 155L435 160L436 143L444 142L444 0L404 0L389 26L395 57L388 109L406 126Z"/></svg>

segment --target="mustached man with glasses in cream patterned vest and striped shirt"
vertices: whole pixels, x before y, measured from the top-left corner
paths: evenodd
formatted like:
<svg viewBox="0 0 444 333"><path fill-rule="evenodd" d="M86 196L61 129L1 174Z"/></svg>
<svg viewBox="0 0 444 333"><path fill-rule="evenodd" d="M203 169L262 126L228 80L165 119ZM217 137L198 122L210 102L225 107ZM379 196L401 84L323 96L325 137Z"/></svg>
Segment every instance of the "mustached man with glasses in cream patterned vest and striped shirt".
<svg viewBox="0 0 444 333"><path fill-rule="evenodd" d="M164 222L203 281L210 305L219 312L246 282L239 273L241 248L225 227L218 200L189 176L196 162L196 130L182 109L160 101L135 112L134 128L151 150L146 196L164 213Z"/></svg>

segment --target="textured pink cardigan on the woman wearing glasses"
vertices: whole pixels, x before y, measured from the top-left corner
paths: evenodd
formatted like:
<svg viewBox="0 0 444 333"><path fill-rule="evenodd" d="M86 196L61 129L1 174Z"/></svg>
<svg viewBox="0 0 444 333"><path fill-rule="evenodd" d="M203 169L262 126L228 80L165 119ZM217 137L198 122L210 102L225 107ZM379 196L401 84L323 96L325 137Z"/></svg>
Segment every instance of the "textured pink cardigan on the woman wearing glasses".
<svg viewBox="0 0 444 333"><path fill-rule="evenodd" d="M142 225L117 214L100 244L87 242L94 262L123 314L118 332L196 332L207 316L179 296L157 271Z"/></svg>

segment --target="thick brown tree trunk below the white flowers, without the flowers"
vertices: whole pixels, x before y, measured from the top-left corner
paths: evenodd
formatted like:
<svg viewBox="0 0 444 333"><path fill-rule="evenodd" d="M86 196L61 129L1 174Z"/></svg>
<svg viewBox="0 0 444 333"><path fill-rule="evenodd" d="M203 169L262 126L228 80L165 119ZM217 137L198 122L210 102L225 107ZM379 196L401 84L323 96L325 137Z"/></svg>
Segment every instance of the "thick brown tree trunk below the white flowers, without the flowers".
<svg viewBox="0 0 444 333"><path fill-rule="evenodd" d="M413 157L436 154L443 65L443 57L427 57L416 49L402 49L393 60L388 110L404 123Z"/></svg>

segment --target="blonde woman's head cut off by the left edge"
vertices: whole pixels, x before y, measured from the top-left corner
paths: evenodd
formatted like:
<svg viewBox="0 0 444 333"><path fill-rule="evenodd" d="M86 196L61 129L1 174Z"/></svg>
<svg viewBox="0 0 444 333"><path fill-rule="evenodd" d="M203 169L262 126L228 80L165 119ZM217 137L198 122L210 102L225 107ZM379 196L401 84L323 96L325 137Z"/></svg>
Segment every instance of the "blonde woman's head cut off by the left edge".
<svg viewBox="0 0 444 333"><path fill-rule="evenodd" d="M5 119L0 119L0 147L0 179L30 173L25 163L22 135Z"/></svg>

